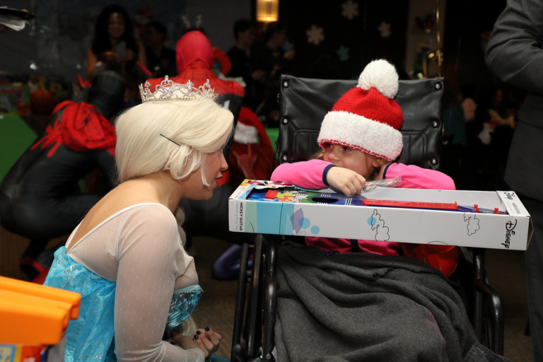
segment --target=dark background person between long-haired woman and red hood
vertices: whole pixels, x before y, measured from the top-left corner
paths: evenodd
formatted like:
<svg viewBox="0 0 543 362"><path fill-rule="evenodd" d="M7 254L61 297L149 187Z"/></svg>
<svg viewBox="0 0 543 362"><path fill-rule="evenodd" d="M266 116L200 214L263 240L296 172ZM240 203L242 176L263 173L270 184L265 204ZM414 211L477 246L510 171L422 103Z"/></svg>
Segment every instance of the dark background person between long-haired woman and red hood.
<svg viewBox="0 0 543 362"><path fill-rule="evenodd" d="M153 77L177 76L175 50L164 46L167 37L166 27L160 21L151 21L145 25L144 44L147 68Z"/></svg>

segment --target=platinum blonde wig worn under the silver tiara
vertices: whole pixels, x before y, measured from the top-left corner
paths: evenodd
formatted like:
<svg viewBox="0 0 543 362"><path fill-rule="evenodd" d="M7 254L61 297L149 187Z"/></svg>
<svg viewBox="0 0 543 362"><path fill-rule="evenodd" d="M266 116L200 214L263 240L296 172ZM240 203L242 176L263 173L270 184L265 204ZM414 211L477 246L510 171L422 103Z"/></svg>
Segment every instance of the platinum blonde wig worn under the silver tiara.
<svg viewBox="0 0 543 362"><path fill-rule="evenodd" d="M165 100L129 108L115 122L119 182L169 170L183 180L218 151L233 128L233 115L214 100Z"/></svg>

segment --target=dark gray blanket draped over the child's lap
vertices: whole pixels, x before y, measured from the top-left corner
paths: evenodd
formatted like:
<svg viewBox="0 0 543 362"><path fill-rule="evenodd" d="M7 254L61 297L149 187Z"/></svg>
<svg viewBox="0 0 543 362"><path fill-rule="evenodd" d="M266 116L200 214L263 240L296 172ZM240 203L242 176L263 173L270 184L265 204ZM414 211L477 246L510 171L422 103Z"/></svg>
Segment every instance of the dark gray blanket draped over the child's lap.
<svg viewBox="0 0 543 362"><path fill-rule="evenodd" d="M277 361L462 361L477 344L462 299L436 269L323 253L279 248Z"/></svg>

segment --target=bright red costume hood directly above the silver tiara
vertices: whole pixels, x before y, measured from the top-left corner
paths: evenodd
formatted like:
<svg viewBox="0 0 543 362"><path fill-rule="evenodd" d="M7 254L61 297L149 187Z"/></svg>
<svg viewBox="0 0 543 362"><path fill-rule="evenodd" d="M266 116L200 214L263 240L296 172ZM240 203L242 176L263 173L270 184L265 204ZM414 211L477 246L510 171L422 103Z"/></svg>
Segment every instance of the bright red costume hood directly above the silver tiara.
<svg viewBox="0 0 543 362"><path fill-rule="evenodd" d="M177 73L181 74L189 64L197 60L204 62L207 69L213 66L213 48L209 39L198 30L189 31L177 41L175 49Z"/></svg>

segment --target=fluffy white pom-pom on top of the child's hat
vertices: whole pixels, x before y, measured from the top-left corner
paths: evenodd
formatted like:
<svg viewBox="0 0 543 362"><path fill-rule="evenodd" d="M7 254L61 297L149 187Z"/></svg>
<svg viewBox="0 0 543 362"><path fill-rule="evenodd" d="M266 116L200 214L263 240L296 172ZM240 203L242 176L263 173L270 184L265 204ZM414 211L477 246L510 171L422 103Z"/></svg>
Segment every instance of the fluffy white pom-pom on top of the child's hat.
<svg viewBox="0 0 543 362"><path fill-rule="evenodd" d="M398 93L398 73L385 59L374 60L358 77L358 86L364 91L375 88L386 98L395 98Z"/></svg>

